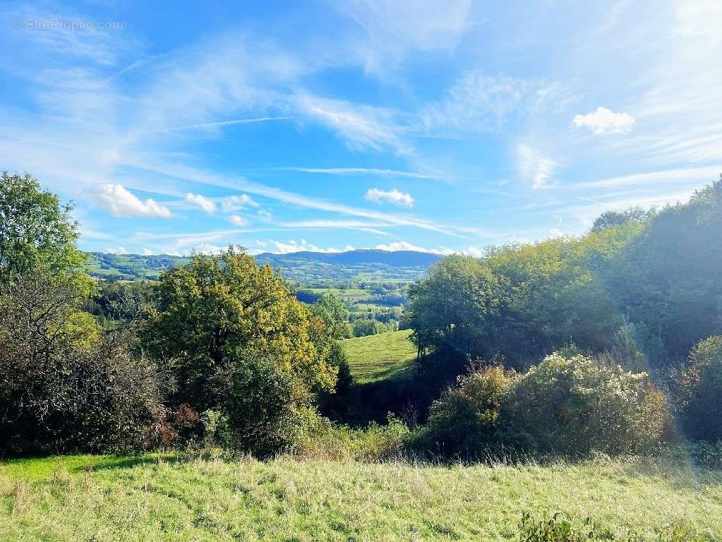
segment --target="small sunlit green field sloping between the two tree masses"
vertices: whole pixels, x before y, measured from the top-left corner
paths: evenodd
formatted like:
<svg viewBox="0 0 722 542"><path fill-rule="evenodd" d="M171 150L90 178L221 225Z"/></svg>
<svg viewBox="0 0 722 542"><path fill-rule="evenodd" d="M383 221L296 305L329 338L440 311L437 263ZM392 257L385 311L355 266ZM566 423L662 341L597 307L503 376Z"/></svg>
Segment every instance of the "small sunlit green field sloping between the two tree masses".
<svg viewBox="0 0 722 542"><path fill-rule="evenodd" d="M403 377L416 359L416 346L409 341L411 330L378 333L342 341L357 383Z"/></svg>

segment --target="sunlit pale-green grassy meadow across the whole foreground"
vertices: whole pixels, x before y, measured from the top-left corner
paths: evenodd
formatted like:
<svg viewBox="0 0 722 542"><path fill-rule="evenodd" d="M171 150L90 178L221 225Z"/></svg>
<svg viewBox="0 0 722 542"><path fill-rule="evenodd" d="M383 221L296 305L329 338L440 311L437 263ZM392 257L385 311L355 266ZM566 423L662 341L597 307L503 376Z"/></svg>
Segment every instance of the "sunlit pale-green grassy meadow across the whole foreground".
<svg viewBox="0 0 722 542"><path fill-rule="evenodd" d="M680 519L709 540L722 533L718 474L684 467L173 455L0 465L1 541L511 541L525 510L565 510L643 540Z"/></svg>

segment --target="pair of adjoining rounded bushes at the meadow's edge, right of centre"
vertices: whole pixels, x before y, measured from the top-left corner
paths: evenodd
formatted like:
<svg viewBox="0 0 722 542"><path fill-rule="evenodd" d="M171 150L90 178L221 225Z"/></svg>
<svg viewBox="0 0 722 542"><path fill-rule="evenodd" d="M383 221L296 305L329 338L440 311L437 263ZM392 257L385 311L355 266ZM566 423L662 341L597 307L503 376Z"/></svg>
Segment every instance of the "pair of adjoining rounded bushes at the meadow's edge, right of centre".
<svg viewBox="0 0 722 542"><path fill-rule="evenodd" d="M505 447L516 453L643 453L669 429L664 395L645 373L580 354L547 356L518 373L472 367L432 403L414 445L473 458Z"/></svg>

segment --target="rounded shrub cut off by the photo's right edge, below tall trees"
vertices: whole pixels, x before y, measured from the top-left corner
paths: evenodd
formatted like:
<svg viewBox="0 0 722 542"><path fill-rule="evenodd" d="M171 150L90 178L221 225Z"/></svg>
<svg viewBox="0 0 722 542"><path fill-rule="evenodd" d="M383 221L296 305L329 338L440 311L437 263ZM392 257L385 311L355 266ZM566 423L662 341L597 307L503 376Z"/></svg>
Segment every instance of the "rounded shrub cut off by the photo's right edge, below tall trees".
<svg viewBox="0 0 722 542"><path fill-rule="evenodd" d="M681 380L687 436L710 442L722 440L722 336L708 337L692 349L690 365Z"/></svg>

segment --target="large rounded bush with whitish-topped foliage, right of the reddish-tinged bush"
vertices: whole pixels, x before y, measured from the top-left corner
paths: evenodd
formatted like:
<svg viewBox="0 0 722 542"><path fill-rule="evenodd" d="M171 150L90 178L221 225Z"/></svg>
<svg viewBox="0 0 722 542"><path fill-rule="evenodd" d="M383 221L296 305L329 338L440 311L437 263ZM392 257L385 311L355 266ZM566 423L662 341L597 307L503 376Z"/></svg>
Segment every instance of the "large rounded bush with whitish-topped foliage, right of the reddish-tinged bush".
<svg viewBox="0 0 722 542"><path fill-rule="evenodd" d="M510 423L539 452L642 453L664 435L664 395L646 373L551 354L515 387Z"/></svg>

